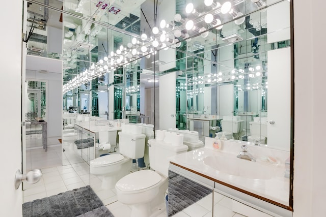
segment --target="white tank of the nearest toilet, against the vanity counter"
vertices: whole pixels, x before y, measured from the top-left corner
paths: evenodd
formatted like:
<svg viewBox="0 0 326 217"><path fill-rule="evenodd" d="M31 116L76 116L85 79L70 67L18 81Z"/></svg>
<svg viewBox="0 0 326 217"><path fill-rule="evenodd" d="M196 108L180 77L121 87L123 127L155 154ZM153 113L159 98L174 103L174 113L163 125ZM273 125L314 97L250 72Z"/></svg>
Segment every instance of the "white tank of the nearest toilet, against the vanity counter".
<svg viewBox="0 0 326 217"><path fill-rule="evenodd" d="M149 139L149 164L150 168L168 177L169 174L169 157L179 153L187 152L187 145L174 146L164 141Z"/></svg>

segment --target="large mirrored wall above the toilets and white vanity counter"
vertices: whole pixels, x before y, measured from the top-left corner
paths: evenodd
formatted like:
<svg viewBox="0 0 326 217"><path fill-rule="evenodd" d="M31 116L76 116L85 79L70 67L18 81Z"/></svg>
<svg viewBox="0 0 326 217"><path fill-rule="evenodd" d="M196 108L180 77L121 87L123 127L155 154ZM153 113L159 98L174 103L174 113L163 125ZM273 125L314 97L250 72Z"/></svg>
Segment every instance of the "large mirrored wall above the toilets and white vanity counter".
<svg viewBox="0 0 326 217"><path fill-rule="evenodd" d="M209 1L154 1L154 12L153 1L135 1L132 9L123 5L128 14L116 10L120 3L107 13L73 10L73 2L64 9L75 16L63 15L63 164L89 166L103 154L94 148L98 127L125 119L290 155L288 1L231 1L228 10ZM196 10L187 14L188 3Z"/></svg>

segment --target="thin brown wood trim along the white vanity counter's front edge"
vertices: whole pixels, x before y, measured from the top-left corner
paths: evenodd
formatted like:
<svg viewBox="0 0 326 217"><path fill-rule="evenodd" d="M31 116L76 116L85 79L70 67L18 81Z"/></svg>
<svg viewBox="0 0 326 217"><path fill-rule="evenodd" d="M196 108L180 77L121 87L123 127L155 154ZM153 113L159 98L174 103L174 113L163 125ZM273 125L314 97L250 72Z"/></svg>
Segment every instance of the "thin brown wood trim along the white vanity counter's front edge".
<svg viewBox="0 0 326 217"><path fill-rule="evenodd" d="M176 164L176 163L174 163L174 162L171 162L171 161L170 161L170 164L173 164L173 165L175 165L175 166L177 166L177 167L180 167L180 168L182 168L182 169L184 169L184 170L187 170L187 171L189 171L189 172L192 172L192 173L195 173L195 174L200 175L200 176L202 176L202 177L205 177L205 178L207 178L207 179L209 179L209 180L212 180L212 181L214 181L214 182L217 182L217 183L219 183L219 184L225 185L225 186L228 187L228 188L231 188L231 189L234 189L234 190L239 191L239 192L241 192L241 193L244 193L244 194L250 195L250 196L252 196L252 197L254 197L254 198L257 198L257 199L263 200L263 201L265 201L265 202L268 202L268 203L274 204L274 205L276 205L276 206L282 207L282 208L284 208L284 209L287 209L287 210L293 211L293 208L290 207L290 206L286 206L286 205L281 204L281 203L279 203L279 202L276 202L276 201L274 201L274 200L270 200L270 199L268 199L268 198L261 197L261 196L259 196L259 195L257 195L257 194L254 194L254 193L252 193L252 192L248 192L248 191L246 191L246 190L240 189L240 188L238 188L238 187L235 187L235 186L232 185L232 184L229 184L229 183L226 183L226 182L223 182L223 181L220 181L220 180L214 179L214 178L212 178L212 177L210 177L210 176L207 176L207 175L202 174L202 173L200 173L200 172L197 172L197 171L195 171L195 170L192 170L192 169L186 168L186 167L181 166L181 165L179 165L179 164Z"/></svg>

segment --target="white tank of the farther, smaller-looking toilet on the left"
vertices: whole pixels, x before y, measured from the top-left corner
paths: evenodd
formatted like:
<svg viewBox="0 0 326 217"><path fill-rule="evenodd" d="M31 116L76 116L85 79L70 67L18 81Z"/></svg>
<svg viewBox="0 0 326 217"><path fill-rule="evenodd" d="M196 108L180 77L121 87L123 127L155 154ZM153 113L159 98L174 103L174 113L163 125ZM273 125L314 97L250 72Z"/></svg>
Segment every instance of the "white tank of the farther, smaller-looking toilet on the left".
<svg viewBox="0 0 326 217"><path fill-rule="evenodd" d="M144 157L145 135L118 132L119 152L131 159Z"/></svg>

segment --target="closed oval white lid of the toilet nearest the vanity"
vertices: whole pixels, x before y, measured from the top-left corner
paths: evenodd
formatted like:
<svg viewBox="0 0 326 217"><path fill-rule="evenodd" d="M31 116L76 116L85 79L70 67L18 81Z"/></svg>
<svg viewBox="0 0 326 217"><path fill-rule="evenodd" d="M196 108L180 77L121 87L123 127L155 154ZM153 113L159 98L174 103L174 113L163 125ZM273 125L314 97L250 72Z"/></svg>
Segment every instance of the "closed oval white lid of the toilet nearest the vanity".
<svg viewBox="0 0 326 217"><path fill-rule="evenodd" d="M134 192L147 189L157 184L161 176L152 170L140 170L121 178L116 187L122 192Z"/></svg>

